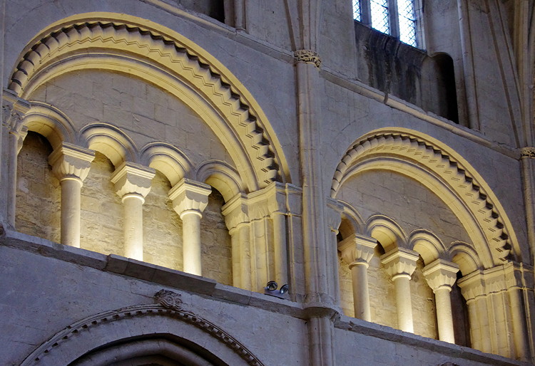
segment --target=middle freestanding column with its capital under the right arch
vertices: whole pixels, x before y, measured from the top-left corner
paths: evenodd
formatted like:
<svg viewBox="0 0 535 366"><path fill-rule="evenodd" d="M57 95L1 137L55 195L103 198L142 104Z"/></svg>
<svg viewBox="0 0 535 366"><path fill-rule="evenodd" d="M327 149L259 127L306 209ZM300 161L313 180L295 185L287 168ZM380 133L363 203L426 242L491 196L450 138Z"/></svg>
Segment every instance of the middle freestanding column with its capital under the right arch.
<svg viewBox="0 0 535 366"><path fill-rule="evenodd" d="M381 256L381 263L392 276L396 289L397 325L405 332L414 333L412 323L412 301L410 279L416 269L418 253L409 249L397 248Z"/></svg>

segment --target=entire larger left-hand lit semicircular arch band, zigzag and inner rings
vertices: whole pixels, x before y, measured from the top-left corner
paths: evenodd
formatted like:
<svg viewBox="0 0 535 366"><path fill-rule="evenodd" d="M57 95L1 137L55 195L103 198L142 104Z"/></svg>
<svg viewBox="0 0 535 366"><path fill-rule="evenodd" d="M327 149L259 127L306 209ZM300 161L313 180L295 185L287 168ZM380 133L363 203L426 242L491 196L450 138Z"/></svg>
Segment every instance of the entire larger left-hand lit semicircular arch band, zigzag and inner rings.
<svg viewBox="0 0 535 366"><path fill-rule="evenodd" d="M200 113L250 192L275 180L291 181L282 147L244 85L213 56L168 28L124 14L78 14L42 31L21 55L9 84L21 98L75 70L135 75Z"/></svg>

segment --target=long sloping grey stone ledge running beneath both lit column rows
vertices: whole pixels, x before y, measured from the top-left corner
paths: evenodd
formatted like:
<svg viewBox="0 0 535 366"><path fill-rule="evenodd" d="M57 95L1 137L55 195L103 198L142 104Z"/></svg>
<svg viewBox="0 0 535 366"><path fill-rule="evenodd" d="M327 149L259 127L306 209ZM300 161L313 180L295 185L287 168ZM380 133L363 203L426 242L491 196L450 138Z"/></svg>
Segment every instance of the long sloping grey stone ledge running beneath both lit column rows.
<svg viewBox="0 0 535 366"><path fill-rule="evenodd" d="M56 258L60 261L74 263L79 266L96 268L100 271L113 273L114 275L137 278L141 281L160 284L195 295L210 296L216 300L222 300L235 305L253 306L270 311L271 313L292 316L297 319L307 320L311 315L314 316L315 314L316 316L327 316L333 320L335 328L340 330L347 330L365 336L387 340L392 343L419 347L448 357L458 357L474 362L487 363L489 365L529 365L528 363L480 352L469 347L452 345L439 340L406 333L384 325L350 318L341 315L337 309L330 307L328 304L293 303L288 300L266 296L262 293L254 293L233 286L226 286L210 278L175 271L115 254L106 256L85 249L64 246L17 231L6 231L4 236L0 238L0 246Z"/></svg>

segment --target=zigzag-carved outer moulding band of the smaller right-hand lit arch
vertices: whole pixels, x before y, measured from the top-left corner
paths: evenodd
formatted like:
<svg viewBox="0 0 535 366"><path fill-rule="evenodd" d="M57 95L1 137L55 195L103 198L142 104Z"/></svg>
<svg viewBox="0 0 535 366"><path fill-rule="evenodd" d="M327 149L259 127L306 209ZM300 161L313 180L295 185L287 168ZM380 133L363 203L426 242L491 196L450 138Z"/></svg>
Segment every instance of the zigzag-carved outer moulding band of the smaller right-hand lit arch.
<svg viewBox="0 0 535 366"><path fill-rule="evenodd" d="M513 244L516 244L510 236L514 233L496 202L481 187L482 182L478 182L474 174L468 172L451 154L409 132L379 130L358 140L337 166L332 179L331 197L336 197L345 179L370 155L376 159L376 166L382 160L387 162L388 157L399 157L403 162L415 161L424 171L438 176L446 183L447 189L454 193L460 205L469 209L481 228L486 244L492 249L494 263L487 265L490 267L509 260Z"/></svg>

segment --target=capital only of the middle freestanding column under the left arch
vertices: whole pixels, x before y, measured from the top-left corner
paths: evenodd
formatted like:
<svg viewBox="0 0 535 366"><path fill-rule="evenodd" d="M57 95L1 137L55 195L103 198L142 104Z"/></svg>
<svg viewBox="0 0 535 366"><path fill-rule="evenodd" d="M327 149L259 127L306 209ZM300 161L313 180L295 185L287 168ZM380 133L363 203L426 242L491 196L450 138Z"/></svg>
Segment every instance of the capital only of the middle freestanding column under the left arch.
<svg viewBox="0 0 535 366"><path fill-rule="evenodd" d="M116 193L121 199L127 194L136 194L145 199L151 191L151 182L156 171L133 162L123 162L111 175L111 182L115 184Z"/></svg>

